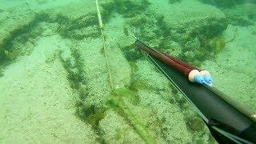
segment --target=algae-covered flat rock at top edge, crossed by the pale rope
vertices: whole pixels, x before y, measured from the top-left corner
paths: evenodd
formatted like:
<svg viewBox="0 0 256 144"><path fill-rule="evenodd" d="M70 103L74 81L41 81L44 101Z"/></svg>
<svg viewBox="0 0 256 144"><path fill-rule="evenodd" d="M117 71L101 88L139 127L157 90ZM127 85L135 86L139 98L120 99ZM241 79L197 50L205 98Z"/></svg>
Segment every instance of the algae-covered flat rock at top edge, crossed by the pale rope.
<svg viewBox="0 0 256 144"><path fill-rule="evenodd" d="M114 10L114 0L99 1L99 4L102 19L103 21L107 21L112 10ZM98 23L95 1L90 0L70 2L69 5L54 9L50 8L46 10L46 13L49 14L52 21L56 20L59 23L66 23L66 20L67 22L71 22L70 24L76 22L76 26L88 26Z"/></svg>

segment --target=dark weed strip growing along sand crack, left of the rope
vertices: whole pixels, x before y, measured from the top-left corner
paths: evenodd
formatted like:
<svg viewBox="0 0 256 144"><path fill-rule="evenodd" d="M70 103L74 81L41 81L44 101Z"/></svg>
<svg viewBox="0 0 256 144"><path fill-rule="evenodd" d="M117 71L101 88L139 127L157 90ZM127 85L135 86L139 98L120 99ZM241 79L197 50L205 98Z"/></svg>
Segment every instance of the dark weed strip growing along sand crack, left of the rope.
<svg viewBox="0 0 256 144"><path fill-rule="evenodd" d="M78 98L76 98L75 115L77 118L92 126L94 132L98 134L98 142L106 143L102 137L102 131L99 128L99 122L105 118L105 108L100 108L94 105L86 105L85 101L89 95L89 89L86 86L86 72L84 71L84 62L81 53L76 48L70 48L71 58L64 60L62 58L62 51L59 52L59 58L67 72L67 79L70 82L70 87L74 89Z"/></svg>

